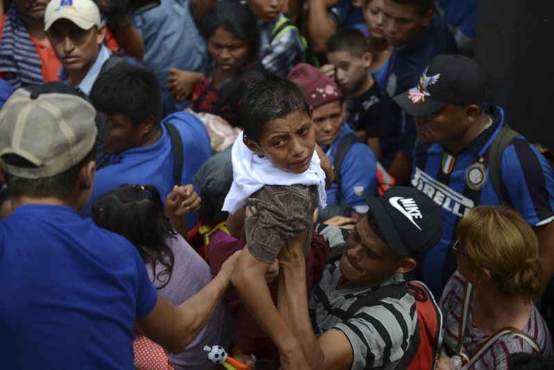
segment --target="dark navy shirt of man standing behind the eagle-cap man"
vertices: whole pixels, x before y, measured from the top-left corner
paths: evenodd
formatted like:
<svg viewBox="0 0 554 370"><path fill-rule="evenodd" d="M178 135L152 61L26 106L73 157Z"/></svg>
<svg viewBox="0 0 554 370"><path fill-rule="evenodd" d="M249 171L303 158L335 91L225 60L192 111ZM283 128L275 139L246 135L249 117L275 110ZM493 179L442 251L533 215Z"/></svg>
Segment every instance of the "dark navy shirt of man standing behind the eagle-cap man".
<svg viewBox="0 0 554 370"><path fill-rule="evenodd" d="M381 164L388 169L401 150L411 157L415 143L415 124L411 116L404 114L393 98L417 85L429 61L439 54L452 54L458 51L456 41L448 30L445 21L433 15L431 24L414 42L405 47L393 49L388 66L386 89L382 105Z"/></svg>

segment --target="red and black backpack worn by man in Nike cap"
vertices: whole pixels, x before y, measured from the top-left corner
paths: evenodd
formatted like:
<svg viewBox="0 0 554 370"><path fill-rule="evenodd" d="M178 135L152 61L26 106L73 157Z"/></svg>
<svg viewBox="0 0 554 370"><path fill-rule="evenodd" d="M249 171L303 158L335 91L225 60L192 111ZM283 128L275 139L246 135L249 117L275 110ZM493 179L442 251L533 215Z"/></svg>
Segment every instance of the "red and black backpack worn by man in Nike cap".
<svg viewBox="0 0 554 370"><path fill-rule="evenodd" d="M418 312L418 321L410 344L396 369L435 369L442 337L443 313L427 285L418 280L409 283L386 285L370 294L357 299L346 311L352 317L362 307L378 306L379 301L388 297L399 298L408 292L415 299L415 310Z"/></svg>

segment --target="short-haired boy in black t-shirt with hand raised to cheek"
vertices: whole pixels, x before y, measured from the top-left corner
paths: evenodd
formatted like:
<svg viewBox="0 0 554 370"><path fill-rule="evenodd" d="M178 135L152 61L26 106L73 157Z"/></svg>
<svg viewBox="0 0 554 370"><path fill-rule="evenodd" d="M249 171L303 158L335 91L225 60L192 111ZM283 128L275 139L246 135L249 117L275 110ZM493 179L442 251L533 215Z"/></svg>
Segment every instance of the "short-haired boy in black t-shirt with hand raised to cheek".
<svg viewBox="0 0 554 370"><path fill-rule="evenodd" d="M378 159L381 91L369 71L372 57L366 37L357 28L340 28L329 37L325 55L330 64L321 71L344 90L346 122Z"/></svg>

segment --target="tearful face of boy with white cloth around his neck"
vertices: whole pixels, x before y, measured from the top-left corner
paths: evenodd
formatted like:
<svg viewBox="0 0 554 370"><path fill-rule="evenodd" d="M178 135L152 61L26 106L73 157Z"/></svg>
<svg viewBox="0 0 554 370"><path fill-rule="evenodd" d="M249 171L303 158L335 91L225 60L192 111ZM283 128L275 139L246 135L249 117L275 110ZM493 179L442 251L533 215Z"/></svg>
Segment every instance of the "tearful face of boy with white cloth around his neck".
<svg viewBox="0 0 554 370"><path fill-rule="evenodd" d="M274 166L292 173L303 173L310 167L316 146L312 118L297 111L269 121L260 136L260 143L245 139L244 143Z"/></svg>

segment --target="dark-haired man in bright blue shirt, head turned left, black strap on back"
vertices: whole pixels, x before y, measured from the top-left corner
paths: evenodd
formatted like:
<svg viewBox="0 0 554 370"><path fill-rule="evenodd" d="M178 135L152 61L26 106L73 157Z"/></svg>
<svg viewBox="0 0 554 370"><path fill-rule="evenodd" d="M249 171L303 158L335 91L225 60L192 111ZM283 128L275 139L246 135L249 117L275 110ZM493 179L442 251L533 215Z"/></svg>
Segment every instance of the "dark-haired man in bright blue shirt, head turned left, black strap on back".
<svg viewBox="0 0 554 370"><path fill-rule="evenodd" d="M98 197L120 184L154 184L165 198L175 185L191 184L211 156L206 127L193 114L175 112L161 119L161 88L150 68L127 63L111 67L98 76L90 98L106 116L108 135L100 146L110 157L96 173L90 201L81 212L84 217ZM182 163L176 168L179 141ZM186 218L188 227L194 227L197 214L188 213Z"/></svg>

